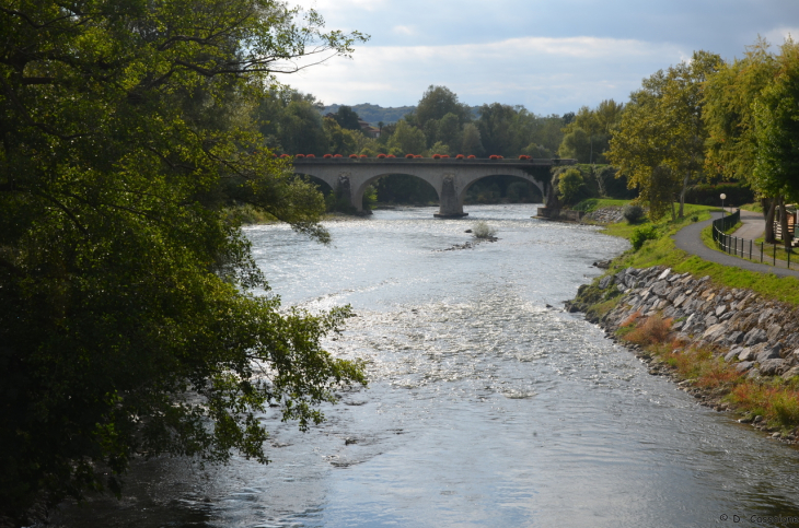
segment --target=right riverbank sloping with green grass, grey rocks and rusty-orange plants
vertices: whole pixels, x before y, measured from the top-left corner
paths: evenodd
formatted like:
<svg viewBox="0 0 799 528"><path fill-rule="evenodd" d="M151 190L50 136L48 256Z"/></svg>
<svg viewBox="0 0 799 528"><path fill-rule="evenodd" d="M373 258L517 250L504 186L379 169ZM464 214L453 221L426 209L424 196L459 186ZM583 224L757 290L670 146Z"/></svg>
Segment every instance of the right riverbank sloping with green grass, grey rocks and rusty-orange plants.
<svg viewBox="0 0 799 528"><path fill-rule="evenodd" d="M668 224L659 226L658 238L621 255L605 275L580 286L567 309L584 312L649 363L650 374L672 377L702 404L736 412L739 421L796 443L796 279L692 257L669 236L680 226ZM630 227L607 231L629 237Z"/></svg>

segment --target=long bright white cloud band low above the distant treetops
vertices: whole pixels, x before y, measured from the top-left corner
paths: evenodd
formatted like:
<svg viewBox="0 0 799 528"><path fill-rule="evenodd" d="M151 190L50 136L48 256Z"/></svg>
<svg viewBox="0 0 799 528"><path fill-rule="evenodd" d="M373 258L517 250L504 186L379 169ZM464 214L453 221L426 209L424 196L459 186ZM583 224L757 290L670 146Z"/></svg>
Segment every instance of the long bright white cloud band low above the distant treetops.
<svg viewBox="0 0 799 528"><path fill-rule="evenodd" d="M672 44L598 37L520 37L488 44L364 46L352 60L280 79L327 104L416 104L430 84L468 104L523 104L539 114L626 101L642 78L691 56ZM410 97L410 99L409 99Z"/></svg>

